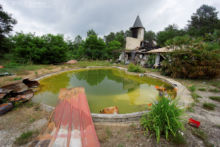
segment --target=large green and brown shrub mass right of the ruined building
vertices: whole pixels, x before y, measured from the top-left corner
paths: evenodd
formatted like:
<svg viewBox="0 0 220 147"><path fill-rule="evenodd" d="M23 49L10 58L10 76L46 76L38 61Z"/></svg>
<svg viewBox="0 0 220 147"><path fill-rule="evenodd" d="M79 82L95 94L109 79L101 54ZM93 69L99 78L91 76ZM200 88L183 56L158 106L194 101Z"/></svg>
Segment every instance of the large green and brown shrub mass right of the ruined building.
<svg viewBox="0 0 220 147"><path fill-rule="evenodd" d="M162 62L162 72L174 78L214 78L220 75L220 44L204 38L175 37L167 41L177 48Z"/></svg>

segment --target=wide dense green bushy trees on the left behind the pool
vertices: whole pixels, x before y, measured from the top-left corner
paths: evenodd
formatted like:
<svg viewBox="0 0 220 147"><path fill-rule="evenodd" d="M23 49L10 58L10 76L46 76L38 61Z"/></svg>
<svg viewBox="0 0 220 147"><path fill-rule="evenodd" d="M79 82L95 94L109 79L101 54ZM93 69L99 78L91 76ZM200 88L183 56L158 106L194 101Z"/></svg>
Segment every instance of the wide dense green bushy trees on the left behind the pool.
<svg viewBox="0 0 220 147"><path fill-rule="evenodd" d="M12 37L13 53L18 62L54 64L66 61L67 44L62 35L17 33Z"/></svg>

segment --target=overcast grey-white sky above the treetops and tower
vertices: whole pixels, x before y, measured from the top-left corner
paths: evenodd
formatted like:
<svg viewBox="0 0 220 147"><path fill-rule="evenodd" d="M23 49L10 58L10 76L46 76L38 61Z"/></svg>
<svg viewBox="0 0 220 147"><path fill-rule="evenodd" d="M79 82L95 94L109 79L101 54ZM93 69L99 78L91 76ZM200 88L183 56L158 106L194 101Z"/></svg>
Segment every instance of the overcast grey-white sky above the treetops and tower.
<svg viewBox="0 0 220 147"><path fill-rule="evenodd" d="M17 20L13 33L70 38L85 37L89 29L100 36L128 30L137 15L146 31L158 32L169 24L184 28L202 4L220 11L220 0L0 0L0 4Z"/></svg>

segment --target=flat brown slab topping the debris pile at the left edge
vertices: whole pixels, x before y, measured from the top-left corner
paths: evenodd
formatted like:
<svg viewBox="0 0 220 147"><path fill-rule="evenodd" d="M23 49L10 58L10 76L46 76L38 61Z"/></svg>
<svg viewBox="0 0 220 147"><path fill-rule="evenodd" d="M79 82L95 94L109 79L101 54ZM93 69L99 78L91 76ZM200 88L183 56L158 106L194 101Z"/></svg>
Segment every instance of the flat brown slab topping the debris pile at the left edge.
<svg viewBox="0 0 220 147"><path fill-rule="evenodd" d="M9 84L6 86L3 86L0 88L0 93L1 94L7 94L10 92L13 93L21 93L28 90L28 87L24 83L15 83L15 84Z"/></svg>

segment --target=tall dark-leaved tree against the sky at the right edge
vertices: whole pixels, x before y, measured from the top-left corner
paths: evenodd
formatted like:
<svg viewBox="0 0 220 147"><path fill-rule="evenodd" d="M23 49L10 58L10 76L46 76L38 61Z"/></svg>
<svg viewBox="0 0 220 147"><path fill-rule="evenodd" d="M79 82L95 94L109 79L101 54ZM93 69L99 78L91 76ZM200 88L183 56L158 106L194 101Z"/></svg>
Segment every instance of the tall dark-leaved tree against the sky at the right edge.
<svg viewBox="0 0 220 147"><path fill-rule="evenodd" d="M216 8L208 5L197 9L188 24L188 32L192 36L204 36L206 33L213 33L215 29L220 29L218 12Z"/></svg>

